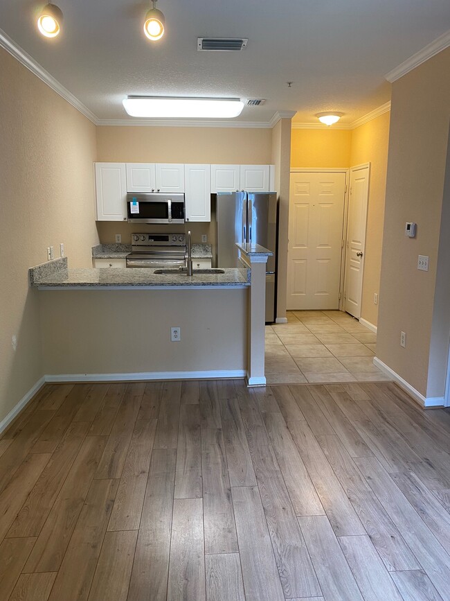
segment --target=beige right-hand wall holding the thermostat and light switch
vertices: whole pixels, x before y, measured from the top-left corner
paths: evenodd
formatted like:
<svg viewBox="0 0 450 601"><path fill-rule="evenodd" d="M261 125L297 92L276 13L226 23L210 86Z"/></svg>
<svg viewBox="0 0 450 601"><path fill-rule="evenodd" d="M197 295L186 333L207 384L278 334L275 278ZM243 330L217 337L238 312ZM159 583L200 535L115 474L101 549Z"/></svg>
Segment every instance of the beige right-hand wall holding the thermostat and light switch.
<svg viewBox="0 0 450 601"><path fill-rule="evenodd" d="M397 80L390 119L377 356L426 397L444 393L445 369L431 381L429 354L440 284L436 268L449 139L449 72L446 49ZM404 235L406 221L417 222L416 238ZM443 234L448 238L448 231ZM418 254L429 255L428 272L417 270ZM441 329L448 328L449 311L447 298ZM399 346L400 331L406 332L405 349ZM444 338L440 355L447 357L448 329Z"/></svg>

